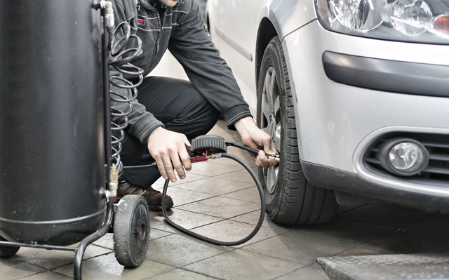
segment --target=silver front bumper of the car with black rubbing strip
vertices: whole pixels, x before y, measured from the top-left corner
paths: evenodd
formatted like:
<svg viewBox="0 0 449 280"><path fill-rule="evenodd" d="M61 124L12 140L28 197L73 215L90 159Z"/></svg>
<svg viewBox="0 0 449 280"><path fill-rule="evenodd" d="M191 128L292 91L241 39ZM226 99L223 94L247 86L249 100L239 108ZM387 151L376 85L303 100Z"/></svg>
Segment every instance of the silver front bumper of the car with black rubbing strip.
<svg viewBox="0 0 449 280"><path fill-rule="evenodd" d="M448 46L348 36L315 20L288 34L283 49L303 166L355 175L392 191L449 198L449 186L383 176L362 160L382 133L449 134ZM312 177L319 173L307 170L317 183Z"/></svg>

